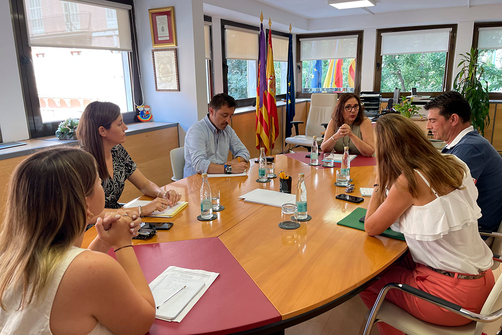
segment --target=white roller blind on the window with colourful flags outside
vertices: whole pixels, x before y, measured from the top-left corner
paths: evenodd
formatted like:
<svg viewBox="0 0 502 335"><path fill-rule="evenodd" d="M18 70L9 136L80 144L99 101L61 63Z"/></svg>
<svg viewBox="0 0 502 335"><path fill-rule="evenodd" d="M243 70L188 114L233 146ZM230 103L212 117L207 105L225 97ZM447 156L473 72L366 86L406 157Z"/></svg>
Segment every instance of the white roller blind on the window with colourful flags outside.
<svg viewBox="0 0 502 335"><path fill-rule="evenodd" d="M356 58L357 36L300 39L301 60Z"/></svg>

